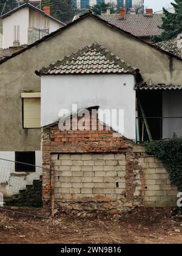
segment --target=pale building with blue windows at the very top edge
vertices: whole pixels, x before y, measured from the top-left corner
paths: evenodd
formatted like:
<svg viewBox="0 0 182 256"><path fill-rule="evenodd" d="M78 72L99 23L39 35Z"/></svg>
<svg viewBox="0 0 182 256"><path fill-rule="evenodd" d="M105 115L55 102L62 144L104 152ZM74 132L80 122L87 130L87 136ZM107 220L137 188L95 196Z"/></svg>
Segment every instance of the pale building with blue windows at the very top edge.
<svg viewBox="0 0 182 256"><path fill-rule="evenodd" d="M143 4L143 0L72 0L73 5L75 7L85 9L88 7L88 5L98 4L100 2L106 2L106 4L110 4L110 2L113 2L113 4L116 4L118 7L129 7L132 8L135 4Z"/></svg>

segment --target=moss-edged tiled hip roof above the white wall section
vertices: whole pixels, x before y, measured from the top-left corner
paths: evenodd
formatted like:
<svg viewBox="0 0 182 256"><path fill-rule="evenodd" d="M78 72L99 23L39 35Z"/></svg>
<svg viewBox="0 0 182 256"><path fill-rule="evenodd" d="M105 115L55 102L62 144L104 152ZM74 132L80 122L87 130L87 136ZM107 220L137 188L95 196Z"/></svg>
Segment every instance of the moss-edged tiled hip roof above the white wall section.
<svg viewBox="0 0 182 256"><path fill-rule="evenodd" d="M93 43L75 54L58 60L48 68L36 71L36 74L133 73L133 71L135 69L132 66L104 49L103 46Z"/></svg>

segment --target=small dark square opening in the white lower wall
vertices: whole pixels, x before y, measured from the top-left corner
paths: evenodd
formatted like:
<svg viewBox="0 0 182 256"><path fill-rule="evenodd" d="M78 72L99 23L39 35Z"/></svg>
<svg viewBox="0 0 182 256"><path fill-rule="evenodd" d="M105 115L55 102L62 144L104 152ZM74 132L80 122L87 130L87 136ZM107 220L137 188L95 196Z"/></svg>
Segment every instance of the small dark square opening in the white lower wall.
<svg viewBox="0 0 182 256"><path fill-rule="evenodd" d="M15 152L15 171L35 172L35 152Z"/></svg>

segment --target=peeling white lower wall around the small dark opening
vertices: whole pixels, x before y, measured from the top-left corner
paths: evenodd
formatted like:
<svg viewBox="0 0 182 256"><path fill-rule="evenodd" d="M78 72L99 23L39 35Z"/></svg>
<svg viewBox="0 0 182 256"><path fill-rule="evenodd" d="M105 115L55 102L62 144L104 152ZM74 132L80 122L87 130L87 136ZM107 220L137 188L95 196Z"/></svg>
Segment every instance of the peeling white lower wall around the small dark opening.
<svg viewBox="0 0 182 256"><path fill-rule="evenodd" d="M4 160L2 160L4 159ZM8 162L11 160L13 162ZM26 185L32 185L33 180L39 180L42 175L42 168L36 168L36 172L15 172L15 152L0 152L0 192L5 197L19 194L19 190L24 190ZM35 152L35 162L37 166L42 166L42 152Z"/></svg>

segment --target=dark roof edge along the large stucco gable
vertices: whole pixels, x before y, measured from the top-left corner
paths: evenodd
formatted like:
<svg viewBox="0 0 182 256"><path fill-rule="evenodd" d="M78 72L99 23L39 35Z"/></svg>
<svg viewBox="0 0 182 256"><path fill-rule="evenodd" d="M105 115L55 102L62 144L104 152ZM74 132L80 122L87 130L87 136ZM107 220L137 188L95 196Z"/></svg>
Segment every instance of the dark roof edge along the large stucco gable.
<svg viewBox="0 0 182 256"><path fill-rule="evenodd" d="M135 38L135 40L138 40L138 41L140 41L141 43L146 44L146 45L148 45L149 47L151 47L151 48L153 48L153 49L156 49L157 51L162 52L163 54L169 55L170 57L174 57L175 59L178 59L178 60L181 60L181 61L182 61L182 58L178 57L177 55L174 55L174 54L172 54L172 53L170 53L170 52L164 51L163 49L161 49L161 48L159 48L159 47L157 47L157 46L155 46L155 45L153 45L153 44L147 43L146 41L143 41L143 40L141 40L140 38L135 37L135 35L130 34L130 32L124 31L123 29L120 29L120 28L116 27L115 25L110 24L109 22L107 22L107 21L105 21L105 20L99 18L99 16L93 15L93 13L89 10L89 11L87 11L86 13L84 13L83 15L79 16L79 18L78 18L77 20L72 21L71 23L67 24L67 25L64 26L64 27L61 27L60 29L58 29L58 30L56 30L56 31L54 31L54 32L52 32L52 33L50 33L49 35L45 35L45 37L42 37L40 40L35 41L35 43L33 43L33 44L29 44L29 46L27 46L27 48L22 49L21 51L15 52L15 54L12 54L10 57L7 57L7 58L5 58L5 59L3 59L3 60L0 60L0 65L1 65L2 63L4 63L4 62L7 62L7 60L12 59L13 57L16 57L17 55L21 54L22 52L28 51L30 48L33 48L33 47L36 46L37 44L42 43L43 41L48 40L49 38L54 37L55 35L61 33L62 31L64 31L64 29L67 29L67 28L69 28L70 26L73 26L74 24L78 23L79 21L83 20L84 18L87 18L88 16L92 16L93 18L95 18L96 20L99 20L99 21L103 22L103 23L106 24L107 26L109 26L109 27L111 27L111 28L113 28L113 29L115 29L115 30L118 30L119 32L122 32L123 34L129 35L129 37Z"/></svg>

